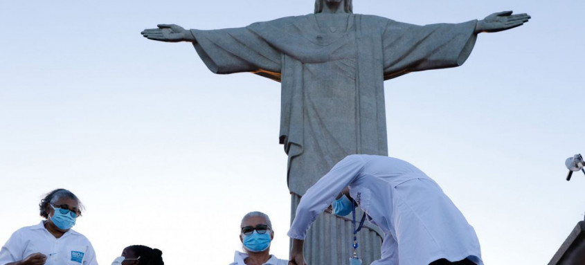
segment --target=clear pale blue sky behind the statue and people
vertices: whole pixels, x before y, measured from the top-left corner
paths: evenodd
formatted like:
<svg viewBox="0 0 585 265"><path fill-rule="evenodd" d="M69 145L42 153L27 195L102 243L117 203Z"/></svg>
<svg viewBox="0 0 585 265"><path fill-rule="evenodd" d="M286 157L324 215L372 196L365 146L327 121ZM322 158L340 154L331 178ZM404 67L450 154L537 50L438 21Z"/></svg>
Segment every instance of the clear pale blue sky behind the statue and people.
<svg viewBox="0 0 585 265"><path fill-rule="evenodd" d="M139 33L246 26L313 6L0 3L0 244L40 221L42 194L62 187L87 208L75 230L100 264L131 244L160 248L167 264L228 264L251 210L271 216L271 252L287 258L280 84L215 75L190 44ZM356 13L421 25L503 10L532 20L480 35L463 66L385 83L390 156L438 181L486 264L546 264L585 212L585 176L564 180L564 160L585 153L585 2L354 1Z"/></svg>

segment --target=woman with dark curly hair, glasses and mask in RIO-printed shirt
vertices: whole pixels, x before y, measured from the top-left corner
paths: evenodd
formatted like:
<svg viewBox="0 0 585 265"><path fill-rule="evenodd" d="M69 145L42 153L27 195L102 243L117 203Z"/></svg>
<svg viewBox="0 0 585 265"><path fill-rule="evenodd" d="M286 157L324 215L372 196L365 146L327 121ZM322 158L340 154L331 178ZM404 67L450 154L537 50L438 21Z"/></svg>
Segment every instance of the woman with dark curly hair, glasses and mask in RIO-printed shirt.
<svg viewBox="0 0 585 265"><path fill-rule="evenodd" d="M83 210L73 192L49 192L39 210L45 220L14 232L0 250L0 265L98 265L87 237L71 229Z"/></svg>

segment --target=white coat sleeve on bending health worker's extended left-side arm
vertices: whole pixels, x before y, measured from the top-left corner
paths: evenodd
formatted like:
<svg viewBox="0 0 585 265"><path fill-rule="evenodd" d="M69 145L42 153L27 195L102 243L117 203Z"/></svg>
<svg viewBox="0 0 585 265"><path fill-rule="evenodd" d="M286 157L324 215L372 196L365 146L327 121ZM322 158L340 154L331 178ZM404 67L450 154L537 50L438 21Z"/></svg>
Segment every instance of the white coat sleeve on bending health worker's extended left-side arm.
<svg viewBox="0 0 585 265"><path fill-rule="evenodd" d="M315 221L318 214L331 205L343 188L354 181L361 172L363 164L362 156L347 156L309 188L300 198L294 221L288 232L289 237L305 239L311 223Z"/></svg>

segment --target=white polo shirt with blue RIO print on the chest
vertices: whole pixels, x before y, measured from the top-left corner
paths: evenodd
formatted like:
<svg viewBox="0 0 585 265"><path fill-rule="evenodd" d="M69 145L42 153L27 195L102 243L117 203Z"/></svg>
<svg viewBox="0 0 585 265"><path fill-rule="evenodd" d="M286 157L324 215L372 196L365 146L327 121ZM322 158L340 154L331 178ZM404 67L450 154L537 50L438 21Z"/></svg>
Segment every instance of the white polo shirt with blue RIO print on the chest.
<svg viewBox="0 0 585 265"><path fill-rule="evenodd" d="M18 262L33 253L46 255L45 265L98 265L87 237L69 229L62 237L55 238L43 221L20 228L10 236L0 250L0 265Z"/></svg>

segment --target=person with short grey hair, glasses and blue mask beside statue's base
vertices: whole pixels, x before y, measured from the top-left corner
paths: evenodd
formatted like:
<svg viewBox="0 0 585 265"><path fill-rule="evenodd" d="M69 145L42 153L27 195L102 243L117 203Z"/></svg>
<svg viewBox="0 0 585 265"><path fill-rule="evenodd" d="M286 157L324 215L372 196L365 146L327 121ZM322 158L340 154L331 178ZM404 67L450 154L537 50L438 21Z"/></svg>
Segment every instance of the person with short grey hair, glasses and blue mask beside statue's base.
<svg viewBox="0 0 585 265"><path fill-rule="evenodd" d="M287 265L286 259L270 255L270 243L274 238L272 223L263 212L249 212L242 218L240 241L244 251L235 251L230 265Z"/></svg>

